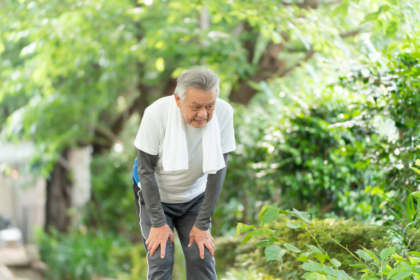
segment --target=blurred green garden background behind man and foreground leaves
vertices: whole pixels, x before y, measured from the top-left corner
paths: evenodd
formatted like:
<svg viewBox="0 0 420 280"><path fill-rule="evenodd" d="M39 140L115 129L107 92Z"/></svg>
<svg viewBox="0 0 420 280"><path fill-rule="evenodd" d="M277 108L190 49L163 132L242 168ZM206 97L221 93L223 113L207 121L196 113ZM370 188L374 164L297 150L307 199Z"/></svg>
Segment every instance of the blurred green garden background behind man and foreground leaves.
<svg viewBox="0 0 420 280"><path fill-rule="evenodd" d="M272 203L346 244L420 249L419 4L1 1L0 279L145 279L133 142L193 65L235 109L212 219L220 279L299 279L232 237Z"/></svg>

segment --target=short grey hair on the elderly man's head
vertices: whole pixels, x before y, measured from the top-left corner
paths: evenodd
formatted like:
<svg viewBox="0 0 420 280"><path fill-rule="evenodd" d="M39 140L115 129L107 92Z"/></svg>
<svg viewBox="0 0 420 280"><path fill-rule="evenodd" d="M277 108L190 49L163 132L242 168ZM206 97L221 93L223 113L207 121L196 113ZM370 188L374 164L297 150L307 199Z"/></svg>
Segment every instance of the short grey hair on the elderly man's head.
<svg viewBox="0 0 420 280"><path fill-rule="evenodd" d="M219 96L219 77L212 70L203 66L192 67L179 75L175 93L184 101L185 92L191 87L204 91L211 91L216 88L217 96Z"/></svg>

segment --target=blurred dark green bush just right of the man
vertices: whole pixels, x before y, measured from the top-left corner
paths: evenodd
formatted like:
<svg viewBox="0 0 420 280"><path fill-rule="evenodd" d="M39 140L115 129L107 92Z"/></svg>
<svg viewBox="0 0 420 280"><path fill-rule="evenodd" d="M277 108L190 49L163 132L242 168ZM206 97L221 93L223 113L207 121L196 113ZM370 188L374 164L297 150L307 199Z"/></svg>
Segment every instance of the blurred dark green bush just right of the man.
<svg viewBox="0 0 420 280"><path fill-rule="evenodd" d="M238 148L229 160L229 188L221 195L243 209L235 215L238 221L253 221L258 206L269 200L284 208L307 207L318 217L332 212L364 219L379 208L383 198L364 189L383 171L367 168L362 151L381 138L373 130L340 125L360 114L358 107L347 104L366 102L340 90L325 89L315 96L290 90L282 98L261 98L250 108L235 108ZM308 91L317 92L316 84ZM232 210L216 212L220 223L231 223Z"/></svg>

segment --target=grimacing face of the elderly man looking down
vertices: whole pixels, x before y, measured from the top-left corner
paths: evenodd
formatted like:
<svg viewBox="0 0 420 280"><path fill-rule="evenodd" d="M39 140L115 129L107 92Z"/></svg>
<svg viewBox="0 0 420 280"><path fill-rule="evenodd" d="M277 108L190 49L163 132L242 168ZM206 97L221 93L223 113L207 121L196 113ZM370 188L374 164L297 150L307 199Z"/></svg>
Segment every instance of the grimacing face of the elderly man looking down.
<svg viewBox="0 0 420 280"><path fill-rule="evenodd" d="M216 107L217 89L203 91L198 88L189 88L185 92L185 100L181 101L175 93L175 100L181 109L184 120L195 128L205 126L213 117Z"/></svg>

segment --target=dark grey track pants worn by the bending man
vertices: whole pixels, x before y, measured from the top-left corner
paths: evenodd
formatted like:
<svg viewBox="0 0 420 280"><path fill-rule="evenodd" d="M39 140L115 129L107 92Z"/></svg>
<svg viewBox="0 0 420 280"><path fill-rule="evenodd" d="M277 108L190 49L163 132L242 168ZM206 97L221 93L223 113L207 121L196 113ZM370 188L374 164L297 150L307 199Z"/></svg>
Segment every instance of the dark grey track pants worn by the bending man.
<svg viewBox="0 0 420 280"><path fill-rule="evenodd" d="M153 254L153 257L149 256L146 240L149 237L152 224L149 215L147 214L146 206L144 205L142 191L135 182L133 182L133 191L143 243L147 251L147 280L170 280L172 279L172 268L174 265L174 245L171 245L168 239L165 257L163 259L160 258L160 246ZM209 250L204 247L204 259L201 259L200 251L195 242L188 248L188 243L190 241L189 235L198 212L200 211L203 199L204 193L185 203L162 202L166 222L172 231L176 228L181 241L187 265L187 280L217 280L215 260L211 257Z"/></svg>

